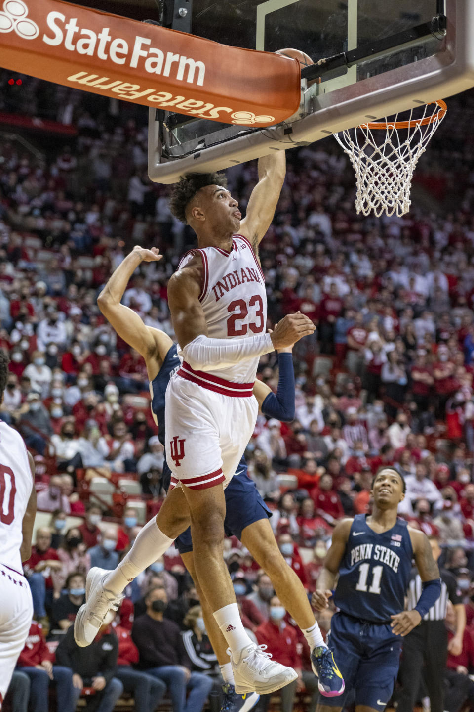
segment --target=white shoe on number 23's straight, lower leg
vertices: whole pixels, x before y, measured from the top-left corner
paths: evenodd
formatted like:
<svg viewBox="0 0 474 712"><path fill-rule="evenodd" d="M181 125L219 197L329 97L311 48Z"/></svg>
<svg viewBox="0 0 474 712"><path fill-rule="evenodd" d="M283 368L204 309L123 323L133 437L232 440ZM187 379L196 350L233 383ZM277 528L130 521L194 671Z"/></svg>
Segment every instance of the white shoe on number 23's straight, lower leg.
<svg viewBox="0 0 474 712"><path fill-rule="evenodd" d="M265 650L266 645L252 643L243 648L239 653L239 659L235 660L230 648L227 649L237 694L257 692L259 695L266 695L297 679L298 675L293 668L271 660L271 654L264 652Z"/></svg>

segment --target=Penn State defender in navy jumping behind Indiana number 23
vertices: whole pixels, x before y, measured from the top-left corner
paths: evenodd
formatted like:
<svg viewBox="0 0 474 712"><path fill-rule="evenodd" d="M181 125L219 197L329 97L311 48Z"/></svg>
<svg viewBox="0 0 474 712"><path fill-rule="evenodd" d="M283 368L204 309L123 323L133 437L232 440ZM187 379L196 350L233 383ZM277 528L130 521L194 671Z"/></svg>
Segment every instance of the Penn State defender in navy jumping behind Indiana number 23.
<svg viewBox="0 0 474 712"><path fill-rule="evenodd" d="M181 367L176 344L161 330L147 327L141 318L129 308L121 304L124 290L129 282L136 261L134 253L139 253L144 261L155 260L159 253L144 250L136 246L133 253L114 271L107 282L99 306L109 323L129 345L134 346L144 357L150 379L151 410L158 426L158 437L165 443L165 406L166 389L173 373ZM154 340L150 341L150 338ZM254 395L262 412L273 418L291 422L294 419L295 384L293 372L292 348L279 350L279 384L276 394L261 381L254 384ZM168 491L171 471L165 460L163 468L163 487ZM257 491L254 482L247 476L247 463L242 460L237 467L237 473L225 489L226 517L225 530L227 535L235 535L242 540L254 558L269 574L274 582L277 594L281 597L293 619L301 627L308 645L313 653L313 667L319 678L319 689L323 694L338 694L344 689L340 674L335 673L334 661L323 642L321 631L315 621L314 614L308 602L306 592L300 580L282 557L273 530L269 525L271 512ZM193 542L190 528L176 540L183 561L195 579L193 558ZM153 555L153 553L152 553ZM247 712L255 703L258 695L237 695L234 689L232 669L227 655L227 643L212 616L205 596L200 591L206 629L212 647L220 662L222 676L225 679L226 699L223 709L230 712Z"/></svg>

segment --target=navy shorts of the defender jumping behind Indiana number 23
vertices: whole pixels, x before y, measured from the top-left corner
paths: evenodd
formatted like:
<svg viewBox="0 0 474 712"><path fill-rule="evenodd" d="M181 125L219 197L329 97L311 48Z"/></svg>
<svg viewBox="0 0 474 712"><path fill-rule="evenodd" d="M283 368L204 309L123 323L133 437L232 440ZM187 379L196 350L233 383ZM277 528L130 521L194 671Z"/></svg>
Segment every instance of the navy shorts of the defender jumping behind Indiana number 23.
<svg viewBox="0 0 474 712"><path fill-rule="evenodd" d="M225 534L236 536L237 539L242 537L242 531L250 524L271 517L271 511L260 496L254 481L247 476L247 468L237 469L225 488L225 506ZM178 536L175 544L180 554L193 551L190 527Z"/></svg>

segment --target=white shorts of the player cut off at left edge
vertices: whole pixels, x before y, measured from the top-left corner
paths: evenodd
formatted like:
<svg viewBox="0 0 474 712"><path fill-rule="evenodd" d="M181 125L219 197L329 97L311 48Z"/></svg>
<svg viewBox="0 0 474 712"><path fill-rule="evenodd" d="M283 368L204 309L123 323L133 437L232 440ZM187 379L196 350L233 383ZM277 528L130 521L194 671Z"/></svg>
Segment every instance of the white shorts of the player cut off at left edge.
<svg viewBox="0 0 474 712"><path fill-rule="evenodd" d="M0 564L0 709L33 618L28 581Z"/></svg>

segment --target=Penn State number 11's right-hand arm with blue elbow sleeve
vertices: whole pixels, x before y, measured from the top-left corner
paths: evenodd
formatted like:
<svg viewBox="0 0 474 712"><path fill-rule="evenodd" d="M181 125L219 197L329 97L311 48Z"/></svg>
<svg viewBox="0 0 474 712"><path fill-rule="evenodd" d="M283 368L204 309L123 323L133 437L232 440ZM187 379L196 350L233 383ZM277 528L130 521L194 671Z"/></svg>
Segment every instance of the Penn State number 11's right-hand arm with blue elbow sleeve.
<svg viewBox="0 0 474 712"><path fill-rule="evenodd" d="M438 564L433 558L429 538L423 532L411 529L410 538L413 547L413 555L421 577L423 591L419 602L411 611L402 611L392 616L392 631L402 637L409 634L429 612L441 595L441 579L439 577Z"/></svg>

